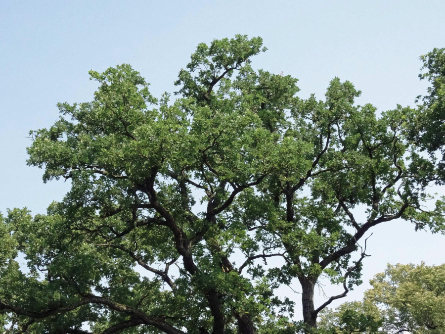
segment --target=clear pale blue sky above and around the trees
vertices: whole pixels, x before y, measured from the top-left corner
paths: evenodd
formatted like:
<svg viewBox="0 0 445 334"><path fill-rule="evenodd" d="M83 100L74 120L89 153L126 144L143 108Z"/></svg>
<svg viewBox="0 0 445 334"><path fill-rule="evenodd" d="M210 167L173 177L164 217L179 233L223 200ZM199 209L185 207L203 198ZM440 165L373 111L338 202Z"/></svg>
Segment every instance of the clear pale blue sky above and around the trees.
<svg viewBox="0 0 445 334"><path fill-rule="evenodd" d="M445 47L444 16L443 0L2 0L0 211L26 206L44 213L68 190L62 181L44 185L42 171L26 166L27 135L55 121L57 102L92 99L89 69L130 63L159 96L175 90L198 43L241 33L263 37L268 48L253 66L297 77L300 96L322 98L337 76L362 91L359 104L386 110L413 105L424 93L419 55ZM444 263L444 241L408 223L379 226L368 242L372 256L363 261L365 283L348 299L361 298L388 262Z"/></svg>

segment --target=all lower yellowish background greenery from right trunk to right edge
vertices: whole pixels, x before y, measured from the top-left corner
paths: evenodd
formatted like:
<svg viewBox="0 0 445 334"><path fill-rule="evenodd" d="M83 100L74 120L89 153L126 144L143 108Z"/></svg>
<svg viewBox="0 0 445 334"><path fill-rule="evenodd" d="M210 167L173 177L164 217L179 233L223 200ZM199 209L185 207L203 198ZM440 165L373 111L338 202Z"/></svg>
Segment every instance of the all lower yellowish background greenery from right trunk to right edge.
<svg viewBox="0 0 445 334"><path fill-rule="evenodd" d="M363 302L325 309L321 333L444 333L445 265L388 265Z"/></svg>

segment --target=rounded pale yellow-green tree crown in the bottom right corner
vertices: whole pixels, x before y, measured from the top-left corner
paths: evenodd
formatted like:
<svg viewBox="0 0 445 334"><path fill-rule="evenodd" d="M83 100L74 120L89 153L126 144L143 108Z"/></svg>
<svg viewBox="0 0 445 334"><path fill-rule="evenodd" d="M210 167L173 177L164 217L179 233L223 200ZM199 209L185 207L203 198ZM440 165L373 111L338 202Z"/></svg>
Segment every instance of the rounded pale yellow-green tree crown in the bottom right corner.
<svg viewBox="0 0 445 334"><path fill-rule="evenodd" d="M388 265L371 285L365 298L385 306L382 311L385 331L444 333L445 264Z"/></svg>

